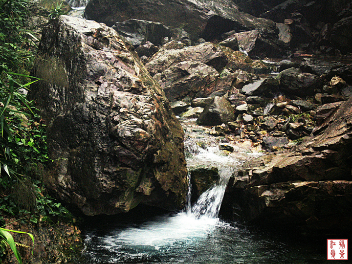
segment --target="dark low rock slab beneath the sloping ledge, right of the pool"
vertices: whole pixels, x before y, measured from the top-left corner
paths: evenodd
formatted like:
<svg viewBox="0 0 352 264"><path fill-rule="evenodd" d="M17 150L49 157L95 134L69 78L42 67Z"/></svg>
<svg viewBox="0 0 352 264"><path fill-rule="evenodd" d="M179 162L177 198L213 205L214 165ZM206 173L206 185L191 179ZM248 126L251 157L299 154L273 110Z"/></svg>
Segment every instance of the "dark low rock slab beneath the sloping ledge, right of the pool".
<svg viewBox="0 0 352 264"><path fill-rule="evenodd" d="M255 186L238 193L251 222L276 228L351 232L352 181L302 181Z"/></svg>

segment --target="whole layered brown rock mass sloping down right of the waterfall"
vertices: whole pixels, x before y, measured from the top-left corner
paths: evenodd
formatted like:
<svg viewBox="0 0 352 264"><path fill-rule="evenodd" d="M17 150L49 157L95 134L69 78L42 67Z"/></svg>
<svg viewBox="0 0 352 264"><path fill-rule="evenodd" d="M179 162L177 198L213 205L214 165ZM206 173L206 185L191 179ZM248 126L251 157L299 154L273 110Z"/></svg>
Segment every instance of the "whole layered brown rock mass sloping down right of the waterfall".
<svg viewBox="0 0 352 264"><path fill-rule="evenodd" d="M234 177L234 203L246 220L351 230L352 98L330 110L315 135L291 152L247 162Z"/></svg>

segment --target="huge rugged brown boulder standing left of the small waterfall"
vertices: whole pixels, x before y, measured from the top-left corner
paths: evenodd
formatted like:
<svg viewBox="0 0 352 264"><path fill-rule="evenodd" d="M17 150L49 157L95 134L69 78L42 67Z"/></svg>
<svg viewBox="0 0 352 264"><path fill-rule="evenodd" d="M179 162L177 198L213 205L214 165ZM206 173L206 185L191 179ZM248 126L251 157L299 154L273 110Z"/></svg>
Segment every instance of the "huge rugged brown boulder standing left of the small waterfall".
<svg viewBox="0 0 352 264"><path fill-rule="evenodd" d="M53 160L45 184L86 215L185 204L183 130L129 47L104 24L61 16L45 27L32 71Z"/></svg>

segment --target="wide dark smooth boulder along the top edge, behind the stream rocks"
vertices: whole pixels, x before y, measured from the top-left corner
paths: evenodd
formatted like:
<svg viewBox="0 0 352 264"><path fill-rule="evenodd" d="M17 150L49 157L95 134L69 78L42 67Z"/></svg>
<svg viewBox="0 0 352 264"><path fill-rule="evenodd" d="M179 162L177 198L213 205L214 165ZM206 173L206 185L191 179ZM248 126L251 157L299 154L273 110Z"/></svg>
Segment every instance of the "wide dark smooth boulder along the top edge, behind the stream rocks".
<svg viewBox="0 0 352 264"><path fill-rule="evenodd" d="M277 37L276 24L242 13L232 0L90 0L85 9L87 19L115 22L129 19L161 22L183 28L191 40L211 41L228 31L258 29L263 36Z"/></svg>

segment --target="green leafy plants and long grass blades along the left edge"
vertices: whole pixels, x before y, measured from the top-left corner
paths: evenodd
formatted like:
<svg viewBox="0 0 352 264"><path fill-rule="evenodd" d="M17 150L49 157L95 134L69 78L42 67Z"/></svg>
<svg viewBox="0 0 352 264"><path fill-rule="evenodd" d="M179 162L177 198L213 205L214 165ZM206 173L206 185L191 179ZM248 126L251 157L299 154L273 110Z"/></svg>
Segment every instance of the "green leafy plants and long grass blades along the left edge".
<svg viewBox="0 0 352 264"><path fill-rule="evenodd" d="M0 263L7 248L22 263L16 249L21 244L10 232L23 232L6 229L6 218L51 224L73 219L44 188L44 167L50 162L45 124L26 98L30 85L38 81L29 76L36 38L27 29L27 6L28 0L0 0ZM60 14L57 6L51 16Z"/></svg>

